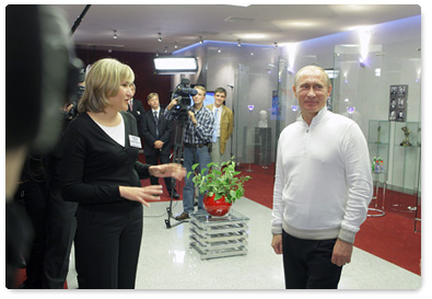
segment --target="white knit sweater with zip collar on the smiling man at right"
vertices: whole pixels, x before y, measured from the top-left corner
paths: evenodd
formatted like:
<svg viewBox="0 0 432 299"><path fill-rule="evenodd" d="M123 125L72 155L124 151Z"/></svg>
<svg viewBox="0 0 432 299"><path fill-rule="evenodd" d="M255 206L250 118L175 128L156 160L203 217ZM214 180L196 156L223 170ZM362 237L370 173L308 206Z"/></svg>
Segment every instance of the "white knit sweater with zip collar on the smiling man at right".
<svg viewBox="0 0 432 299"><path fill-rule="evenodd" d="M353 243L366 219L373 184L367 143L351 119L324 107L300 116L278 143L271 232Z"/></svg>

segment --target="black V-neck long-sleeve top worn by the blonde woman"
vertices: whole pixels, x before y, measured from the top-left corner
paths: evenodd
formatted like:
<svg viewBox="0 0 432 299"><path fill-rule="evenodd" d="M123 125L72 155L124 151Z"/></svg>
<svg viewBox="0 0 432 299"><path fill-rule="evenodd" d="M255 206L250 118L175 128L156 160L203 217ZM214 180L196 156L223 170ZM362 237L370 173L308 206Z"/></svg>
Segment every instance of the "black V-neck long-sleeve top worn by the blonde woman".
<svg viewBox="0 0 432 299"><path fill-rule="evenodd" d="M120 196L119 186L141 186L150 177L149 166L138 161L137 120L120 112L125 123L125 147L112 139L86 113L73 119L65 133L61 160L61 195L89 209L125 211L141 205Z"/></svg>

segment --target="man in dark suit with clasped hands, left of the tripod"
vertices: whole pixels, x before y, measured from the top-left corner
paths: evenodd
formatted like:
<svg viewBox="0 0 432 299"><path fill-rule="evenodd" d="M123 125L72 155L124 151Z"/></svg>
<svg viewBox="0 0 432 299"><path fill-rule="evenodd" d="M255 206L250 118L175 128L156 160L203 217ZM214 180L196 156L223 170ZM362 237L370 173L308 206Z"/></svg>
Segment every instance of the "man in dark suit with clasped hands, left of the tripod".
<svg viewBox="0 0 432 299"><path fill-rule="evenodd" d="M150 110L143 114L143 136L144 136L144 154L145 162L151 165L157 165L157 158L161 164L171 163L171 134L173 131L172 122L165 119L164 111L159 104L159 95L152 92L148 95L147 101ZM175 189L175 180L165 177L165 186L173 198L178 199L178 193ZM159 185L159 179L150 177L152 185ZM173 194L171 193L173 191Z"/></svg>

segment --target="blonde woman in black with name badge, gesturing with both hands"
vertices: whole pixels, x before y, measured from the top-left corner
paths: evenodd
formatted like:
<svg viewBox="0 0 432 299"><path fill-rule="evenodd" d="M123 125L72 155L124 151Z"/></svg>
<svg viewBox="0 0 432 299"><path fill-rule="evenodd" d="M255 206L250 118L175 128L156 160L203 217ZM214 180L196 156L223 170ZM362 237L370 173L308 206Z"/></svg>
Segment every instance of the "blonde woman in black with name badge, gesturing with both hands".
<svg viewBox="0 0 432 299"><path fill-rule="evenodd" d="M110 58L86 74L80 115L65 134L61 195L78 202L77 272L80 288L135 288L142 235L142 205L159 200L161 185L141 187L150 175L182 180L179 164L138 162L141 141L127 113L132 70Z"/></svg>

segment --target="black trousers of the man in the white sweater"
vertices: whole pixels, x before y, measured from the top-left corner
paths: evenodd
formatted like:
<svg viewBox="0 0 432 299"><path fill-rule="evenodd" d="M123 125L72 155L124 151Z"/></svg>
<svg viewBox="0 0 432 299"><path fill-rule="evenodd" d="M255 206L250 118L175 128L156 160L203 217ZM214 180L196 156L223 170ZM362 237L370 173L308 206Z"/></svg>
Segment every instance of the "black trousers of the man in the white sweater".
<svg viewBox="0 0 432 299"><path fill-rule="evenodd" d="M282 231L287 289L337 289L342 267L331 263L334 240L302 240Z"/></svg>

